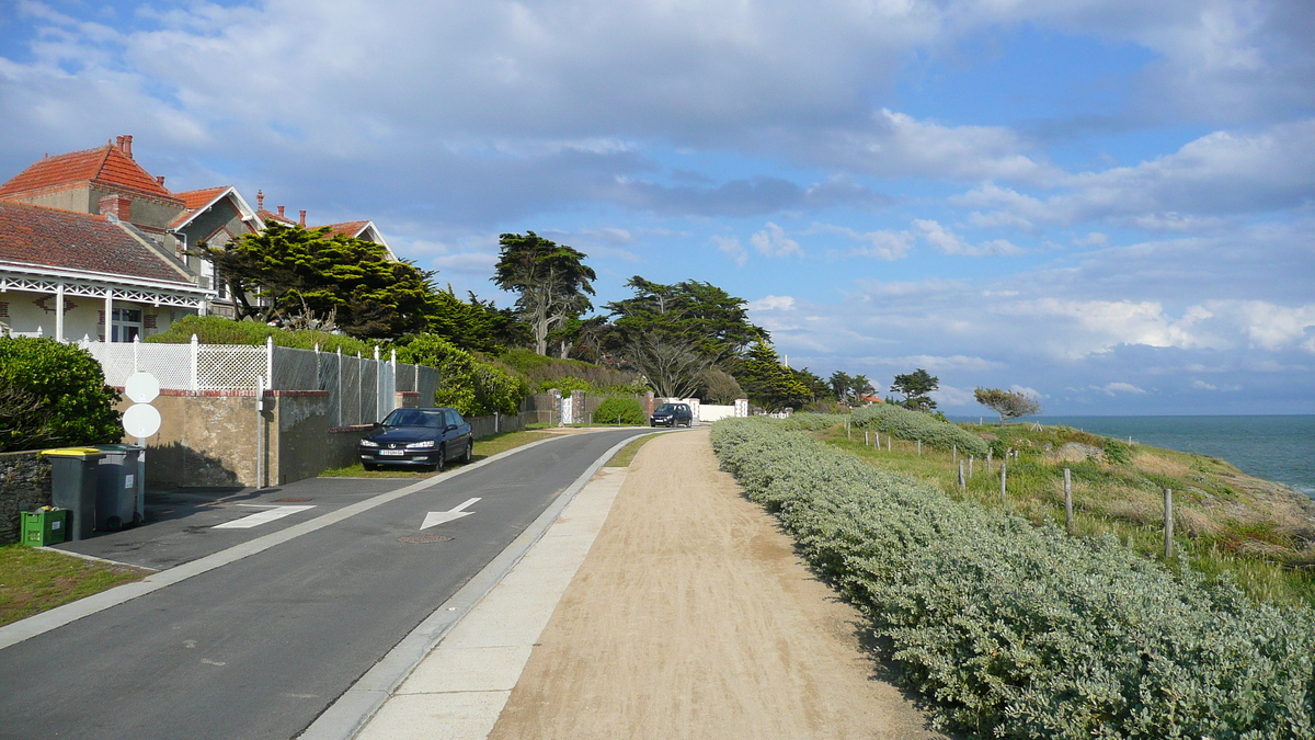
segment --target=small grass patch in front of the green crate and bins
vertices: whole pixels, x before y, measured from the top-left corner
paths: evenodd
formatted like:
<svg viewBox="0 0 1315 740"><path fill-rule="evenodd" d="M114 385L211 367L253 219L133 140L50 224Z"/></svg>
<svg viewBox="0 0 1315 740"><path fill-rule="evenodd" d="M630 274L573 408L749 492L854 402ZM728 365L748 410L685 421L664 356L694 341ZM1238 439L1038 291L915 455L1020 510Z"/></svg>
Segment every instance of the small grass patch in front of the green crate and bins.
<svg viewBox="0 0 1315 740"><path fill-rule="evenodd" d="M147 573L21 544L0 546L0 625L138 581Z"/></svg>

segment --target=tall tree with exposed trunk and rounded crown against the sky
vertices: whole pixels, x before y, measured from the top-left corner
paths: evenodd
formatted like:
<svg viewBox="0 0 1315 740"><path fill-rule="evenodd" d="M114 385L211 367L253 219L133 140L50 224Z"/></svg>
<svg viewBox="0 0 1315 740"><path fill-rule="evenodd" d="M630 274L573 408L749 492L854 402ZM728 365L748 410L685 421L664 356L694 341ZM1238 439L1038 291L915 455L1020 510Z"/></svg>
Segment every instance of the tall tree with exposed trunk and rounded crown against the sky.
<svg viewBox="0 0 1315 740"><path fill-rule="evenodd" d="M586 294L594 295L590 280L598 277L583 262L588 254L534 232L502 234L498 245L493 283L519 294L515 308L530 325L534 352L546 356L552 329L593 308Z"/></svg>

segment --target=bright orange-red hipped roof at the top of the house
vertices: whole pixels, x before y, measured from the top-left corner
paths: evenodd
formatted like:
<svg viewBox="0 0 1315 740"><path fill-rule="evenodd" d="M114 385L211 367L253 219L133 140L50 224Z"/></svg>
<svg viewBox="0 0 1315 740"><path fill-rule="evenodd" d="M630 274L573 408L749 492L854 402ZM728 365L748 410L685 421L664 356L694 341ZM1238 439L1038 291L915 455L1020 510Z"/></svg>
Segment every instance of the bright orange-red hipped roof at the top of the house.
<svg viewBox="0 0 1315 740"><path fill-rule="evenodd" d="M80 183L128 190L181 205L174 194L114 145L46 157L0 184L0 199Z"/></svg>

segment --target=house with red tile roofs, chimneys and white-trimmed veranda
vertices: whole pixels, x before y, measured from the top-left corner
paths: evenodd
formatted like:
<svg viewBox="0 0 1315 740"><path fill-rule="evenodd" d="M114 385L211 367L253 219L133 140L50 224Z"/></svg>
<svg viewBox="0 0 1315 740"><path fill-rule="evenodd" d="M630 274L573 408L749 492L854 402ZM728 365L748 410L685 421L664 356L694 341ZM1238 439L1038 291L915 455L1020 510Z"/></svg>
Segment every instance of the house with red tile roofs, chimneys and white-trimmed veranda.
<svg viewBox="0 0 1315 740"><path fill-rule="evenodd" d="M262 226L233 187L171 192L134 159L132 136L37 161L0 184L0 330L60 340L231 316L222 280L187 250Z"/></svg>

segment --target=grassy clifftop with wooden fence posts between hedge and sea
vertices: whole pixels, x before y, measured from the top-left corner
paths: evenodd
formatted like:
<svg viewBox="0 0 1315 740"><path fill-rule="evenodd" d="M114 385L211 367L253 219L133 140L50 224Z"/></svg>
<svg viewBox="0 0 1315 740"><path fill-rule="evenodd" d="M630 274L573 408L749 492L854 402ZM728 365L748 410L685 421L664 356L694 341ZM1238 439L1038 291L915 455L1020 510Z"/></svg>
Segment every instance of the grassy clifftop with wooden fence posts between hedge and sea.
<svg viewBox="0 0 1315 740"><path fill-rule="evenodd" d="M1065 523L1068 467L1073 533L1090 537L1111 532L1155 558L1164 557L1164 489L1170 489L1177 556L1170 566L1190 565L1214 578L1232 577L1256 599L1315 606L1315 529L1307 511L1279 486L1218 458L1147 445L1130 448L1066 427L964 428L986 437L998 452L1019 450L1018 460L1009 461L1003 500L999 454L989 471L984 460L974 460L967 489L960 489L952 453L924 446L919 456L917 444L903 440L892 440L888 450L885 436L878 452L864 442L861 432L847 438L844 427L818 436L874 465L931 482L956 499L1002 507L1034 524L1047 519ZM967 460L964 463L967 474Z"/></svg>

